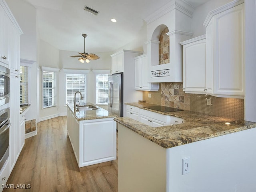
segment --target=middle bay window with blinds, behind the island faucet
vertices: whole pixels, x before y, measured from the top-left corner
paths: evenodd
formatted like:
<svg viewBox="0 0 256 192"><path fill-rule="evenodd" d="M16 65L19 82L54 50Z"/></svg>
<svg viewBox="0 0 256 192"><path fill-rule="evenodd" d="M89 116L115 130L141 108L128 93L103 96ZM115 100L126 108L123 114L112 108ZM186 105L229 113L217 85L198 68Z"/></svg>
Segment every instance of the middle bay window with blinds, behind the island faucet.
<svg viewBox="0 0 256 192"><path fill-rule="evenodd" d="M76 101L80 103L86 102L86 74L66 74L66 89L67 89L67 104L74 104L74 94L79 91L82 93L83 100L80 94L76 94Z"/></svg>

